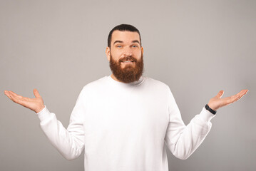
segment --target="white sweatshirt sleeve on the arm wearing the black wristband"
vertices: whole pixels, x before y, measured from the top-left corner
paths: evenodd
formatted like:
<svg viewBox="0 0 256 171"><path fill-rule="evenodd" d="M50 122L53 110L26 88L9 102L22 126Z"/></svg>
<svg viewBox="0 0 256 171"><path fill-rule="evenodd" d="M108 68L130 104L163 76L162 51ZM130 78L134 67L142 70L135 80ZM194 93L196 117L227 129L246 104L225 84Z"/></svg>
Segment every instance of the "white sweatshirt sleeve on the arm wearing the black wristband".
<svg viewBox="0 0 256 171"><path fill-rule="evenodd" d="M208 135L215 116L203 107L200 114L186 126L180 115L180 110L169 88L168 94L169 124L165 135L165 142L170 151L182 160L187 159Z"/></svg>

